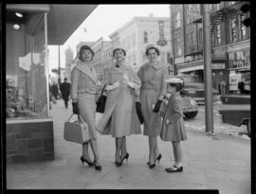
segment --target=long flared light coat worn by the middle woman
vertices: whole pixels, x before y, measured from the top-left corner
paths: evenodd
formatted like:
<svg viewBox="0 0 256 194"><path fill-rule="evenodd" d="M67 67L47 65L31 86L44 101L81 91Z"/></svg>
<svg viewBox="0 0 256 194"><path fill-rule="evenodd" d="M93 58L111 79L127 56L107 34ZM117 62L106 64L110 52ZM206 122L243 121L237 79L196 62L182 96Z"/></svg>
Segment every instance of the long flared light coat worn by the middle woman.
<svg viewBox="0 0 256 194"><path fill-rule="evenodd" d="M99 124L98 132L112 134L113 137L139 134L140 123L137 117L135 102L139 96L140 80L134 70L126 65L119 68L111 66L106 71L105 84L114 84L126 73L136 89L122 83L119 88L107 92L104 115Z"/></svg>

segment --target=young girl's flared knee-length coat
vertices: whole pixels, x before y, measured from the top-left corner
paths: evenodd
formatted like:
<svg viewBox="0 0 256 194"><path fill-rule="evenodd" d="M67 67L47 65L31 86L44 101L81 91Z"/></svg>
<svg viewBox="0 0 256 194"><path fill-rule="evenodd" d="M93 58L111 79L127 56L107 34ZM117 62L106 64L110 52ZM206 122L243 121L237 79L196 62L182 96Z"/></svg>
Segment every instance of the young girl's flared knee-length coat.
<svg viewBox="0 0 256 194"><path fill-rule="evenodd" d="M183 141L187 139L182 116L182 101L179 94L170 97L168 104L162 103L160 115L163 116L160 138L163 141ZM167 118L170 120L166 124Z"/></svg>

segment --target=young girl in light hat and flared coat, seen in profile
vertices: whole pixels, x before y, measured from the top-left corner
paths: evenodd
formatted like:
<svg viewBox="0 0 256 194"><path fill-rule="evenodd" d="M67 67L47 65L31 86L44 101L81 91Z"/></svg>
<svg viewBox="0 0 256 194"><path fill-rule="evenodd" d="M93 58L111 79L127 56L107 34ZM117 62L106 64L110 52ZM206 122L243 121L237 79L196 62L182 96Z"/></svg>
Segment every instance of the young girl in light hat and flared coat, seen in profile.
<svg viewBox="0 0 256 194"><path fill-rule="evenodd" d="M171 93L171 97L166 102L165 108L160 110L162 119L162 129L160 138L162 141L172 141L174 149L174 166L166 168L167 172L181 172L182 166L182 151L180 141L187 139L183 116L182 116L182 101L180 90L183 87L182 79L166 79L167 93Z"/></svg>

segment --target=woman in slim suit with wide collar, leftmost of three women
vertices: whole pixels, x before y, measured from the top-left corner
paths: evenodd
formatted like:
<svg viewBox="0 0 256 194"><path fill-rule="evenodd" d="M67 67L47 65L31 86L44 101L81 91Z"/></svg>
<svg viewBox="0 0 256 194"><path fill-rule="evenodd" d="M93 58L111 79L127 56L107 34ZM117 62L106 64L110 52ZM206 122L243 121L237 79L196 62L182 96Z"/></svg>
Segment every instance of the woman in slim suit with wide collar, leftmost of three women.
<svg viewBox="0 0 256 194"><path fill-rule="evenodd" d="M95 166L96 169L101 170L95 129L97 74L93 67L93 56L93 50L88 45L82 45L79 60L71 72L71 98L73 113L81 115L90 132L90 140L82 144L82 164L86 162L89 166ZM95 161L91 161L89 157L88 143L94 153Z"/></svg>

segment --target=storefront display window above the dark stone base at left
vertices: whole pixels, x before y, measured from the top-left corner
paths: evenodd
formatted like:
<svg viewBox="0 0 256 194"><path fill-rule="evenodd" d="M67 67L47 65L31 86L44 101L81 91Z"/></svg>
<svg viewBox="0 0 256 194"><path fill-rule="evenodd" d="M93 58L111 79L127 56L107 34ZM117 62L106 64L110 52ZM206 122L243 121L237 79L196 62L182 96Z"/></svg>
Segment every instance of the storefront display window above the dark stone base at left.
<svg viewBox="0 0 256 194"><path fill-rule="evenodd" d="M27 12L26 18L20 30L12 28L13 18L7 18L8 119L48 117L45 15Z"/></svg>

